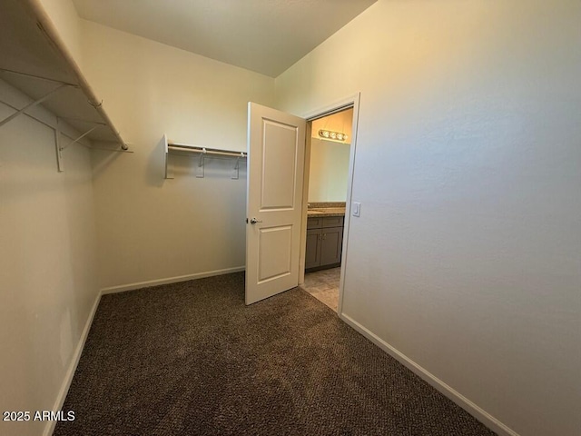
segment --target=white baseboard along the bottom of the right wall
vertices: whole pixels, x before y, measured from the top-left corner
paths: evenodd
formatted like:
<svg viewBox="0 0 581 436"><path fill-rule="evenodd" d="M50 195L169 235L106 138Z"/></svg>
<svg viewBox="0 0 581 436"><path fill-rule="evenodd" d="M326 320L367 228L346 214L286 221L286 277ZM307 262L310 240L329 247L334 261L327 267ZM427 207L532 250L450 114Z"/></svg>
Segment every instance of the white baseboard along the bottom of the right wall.
<svg viewBox="0 0 581 436"><path fill-rule="evenodd" d="M381 348L384 352L387 352L391 357L395 358L398 362L402 363L409 370L419 375L419 377L422 378L424 381L428 381L428 383L431 386L433 386L438 391L446 395L446 397L448 397L448 399L450 399L451 401L457 403L458 406L460 406L462 409L468 411L468 413L470 413L472 416L478 419L478 421L481 421L483 424L485 424L489 429L496 431L499 435L503 436L519 436L516 431L511 430L510 428L507 427L507 425L498 421L494 416L490 415L489 413L487 413L487 411L484 411L483 409L478 407L478 405L476 405L474 402L469 401L468 398L466 398L460 392L452 389L444 381L439 380L438 377L436 377L434 374L428 372L427 370L419 366L418 363L409 359L408 356L406 356L402 352L399 352L397 349L389 345L388 342L383 341L375 333L370 332L367 328L359 324L359 322L356 322L355 320L350 318L349 315L346 315L345 313L340 313L339 316L341 320L347 322L351 327L353 327L353 329L361 333L363 336L369 339L369 341L378 345L379 348Z"/></svg>

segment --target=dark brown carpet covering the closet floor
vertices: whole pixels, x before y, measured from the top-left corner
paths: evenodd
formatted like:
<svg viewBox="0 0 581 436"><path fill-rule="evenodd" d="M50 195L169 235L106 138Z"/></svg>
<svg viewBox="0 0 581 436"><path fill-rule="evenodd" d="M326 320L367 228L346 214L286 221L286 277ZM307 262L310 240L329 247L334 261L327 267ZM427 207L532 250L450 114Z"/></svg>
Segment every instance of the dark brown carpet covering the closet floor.
<svg viewBox="0 0 581 436"><path fill-rule="evenodd" d="M242 273L105 295L63 435L493 435L307 292Z"/></svg>

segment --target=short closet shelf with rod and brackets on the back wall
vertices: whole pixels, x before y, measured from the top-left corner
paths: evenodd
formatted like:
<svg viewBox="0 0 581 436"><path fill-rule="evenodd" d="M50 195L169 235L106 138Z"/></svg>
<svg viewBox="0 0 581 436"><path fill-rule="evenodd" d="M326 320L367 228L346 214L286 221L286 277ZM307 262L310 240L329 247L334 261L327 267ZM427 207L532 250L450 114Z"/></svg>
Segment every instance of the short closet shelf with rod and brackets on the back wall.
<svg viewBox="0 0 581 436"><path fill-rule="evenodd" d="M246 152L237 152L233 150L222 150L218 148L208 148L199 145L170 143L167 140L167 135L162 137L163 149L165 151L165 178L173 179L172 164L170 163L170 154L199 154L198 166L196 170L196 177L202 178L204 176L204 166L206 158L216 159L235 159L232 168L231 179L239 178L240 161L246 159Z"/></svg>

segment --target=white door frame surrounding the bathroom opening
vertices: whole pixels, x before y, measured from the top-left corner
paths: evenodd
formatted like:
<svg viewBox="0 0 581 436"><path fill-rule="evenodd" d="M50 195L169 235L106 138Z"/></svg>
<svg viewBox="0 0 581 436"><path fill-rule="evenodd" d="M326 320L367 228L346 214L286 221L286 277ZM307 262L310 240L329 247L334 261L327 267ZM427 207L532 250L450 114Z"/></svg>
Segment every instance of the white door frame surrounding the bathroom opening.
<svg viewBox="0 0 581 436"><path fill-rule="evenodd" d="M300 259L299 259L299 284L305 282L305 258L307 252L307 207L309 203L309 175L310 175L310 134L312 121L330 114L336 114L346 109L353 108L353 124L351 126L351 146L349 157L349 174L347 177L347 196L345 198L345 221L343 228L343 247L341 252L341 272L339 282L339 303L337 313L341 315L343 309L343 288L345 285L345 272L347 270L347 248L350 237L351 198L353 193L353 175L355 173L355 152L357 148L357 128L359 124L359 100L361 93L350 95L335 103L326 104L317 110L300 115L307 120L305 164L302 183L302 223L300 224Z"/></svg>

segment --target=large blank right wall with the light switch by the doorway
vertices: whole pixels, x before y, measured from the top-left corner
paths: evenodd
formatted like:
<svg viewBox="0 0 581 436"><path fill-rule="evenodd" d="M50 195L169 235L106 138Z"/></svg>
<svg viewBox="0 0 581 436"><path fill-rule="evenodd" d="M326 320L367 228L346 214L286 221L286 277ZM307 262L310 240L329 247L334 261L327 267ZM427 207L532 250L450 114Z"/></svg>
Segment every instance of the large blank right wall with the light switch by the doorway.
<svg viewBox="0 0 581 436"><path fill-rule="evenodd" d="M579 23L379 0L276 80L295 114L361 93L344 315L522 435L581 428Z"/></svg>

